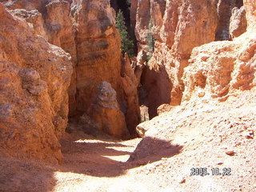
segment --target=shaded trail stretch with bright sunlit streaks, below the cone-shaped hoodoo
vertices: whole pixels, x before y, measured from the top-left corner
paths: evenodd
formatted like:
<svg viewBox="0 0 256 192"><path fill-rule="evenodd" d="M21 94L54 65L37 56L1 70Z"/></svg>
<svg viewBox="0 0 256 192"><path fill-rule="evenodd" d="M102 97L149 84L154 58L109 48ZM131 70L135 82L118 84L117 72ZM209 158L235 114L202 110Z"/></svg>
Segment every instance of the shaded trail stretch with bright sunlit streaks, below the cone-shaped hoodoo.
<svg viewBox="0 0 256 192"><path fill-rule="evenodd" d="M129 141L94 138L86 134L67 135L62 140L63 170L96 177L124 174L126 161L141 138Z"/></svg>

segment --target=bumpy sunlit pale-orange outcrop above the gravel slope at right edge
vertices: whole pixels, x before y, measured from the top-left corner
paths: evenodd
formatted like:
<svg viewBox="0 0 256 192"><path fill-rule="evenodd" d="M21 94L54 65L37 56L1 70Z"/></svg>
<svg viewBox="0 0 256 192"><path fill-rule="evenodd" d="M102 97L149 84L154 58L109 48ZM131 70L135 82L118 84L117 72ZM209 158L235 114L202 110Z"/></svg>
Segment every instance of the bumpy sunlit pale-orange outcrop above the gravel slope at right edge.
<svg viewBox="0 0 256 192"><path fill-rule="evenodd" d="M159 107L160 115L158 118L137 126L140 136L169 137L170 121L177 121L174 117L183 114L186 118L191 118L198 114L198 117L203 119L202 111L200 111L202 108L205 108L203 113L209 117L220 113L218 116L222 118L222 113L226 109L229 111L244 110L248 113L247 116L254 117L254 113L248 110L249 108L246 106L246 99L250 98L251 101L249 102L252 102L252 105L255 104L254 99L252 99L256 87L255 6L256 2L254 1L244 1L246 22L248 23L244 34L234 38L233 41L210 42L195 47L191 51L189 64L184 68L182 74L185 89L181 106L162 105ZM168 113L168 111L170 112ZM194 115L190 116L191 113ZM189 115L187 116L187 114ZM234 113L233 115L237 117L240 114ZM167 118L169 120L166 120ZM198 123L194 119L196 118L190 119L188 127ZM177 123L180 123L179 120ZM184 124L181 123L181 126L183 127ZM212 130L216 128L210 127ZM148 132L148 130L150 131ZM165 136L160 136L158 134L160 132Z"/></svg>

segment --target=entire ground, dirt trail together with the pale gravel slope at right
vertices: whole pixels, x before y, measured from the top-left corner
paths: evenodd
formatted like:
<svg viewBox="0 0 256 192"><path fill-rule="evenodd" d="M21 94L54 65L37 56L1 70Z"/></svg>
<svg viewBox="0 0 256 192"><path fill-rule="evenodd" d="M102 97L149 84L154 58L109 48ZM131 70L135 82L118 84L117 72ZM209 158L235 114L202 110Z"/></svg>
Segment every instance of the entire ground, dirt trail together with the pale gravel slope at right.
<svg viewBox="0 0 256 192"><path fill-rule="evenodd" d="M256 97L251 92L242 97L230 98L225 106L177 107L171 112L176 115L152 119L143 140L65 134L59 166L0 151L0 192L256 191ZM232 171L230 176L190 176L192 167Z"/></svg>

